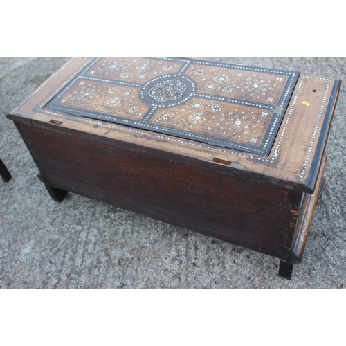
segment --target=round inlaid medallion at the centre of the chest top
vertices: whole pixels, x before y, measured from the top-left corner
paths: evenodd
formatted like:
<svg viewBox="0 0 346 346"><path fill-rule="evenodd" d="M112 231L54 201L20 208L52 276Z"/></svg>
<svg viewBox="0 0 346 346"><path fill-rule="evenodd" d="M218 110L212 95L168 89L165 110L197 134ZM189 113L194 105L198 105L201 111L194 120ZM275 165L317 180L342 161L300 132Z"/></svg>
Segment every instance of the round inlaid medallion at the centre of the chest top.
<svg viewBox="0 0 346 346"><path fill-rule="evenodd" d="M180 75L163 75L150 80L140 89L140 100L156 107L175 107L192 98L194 82Z"/></svg>

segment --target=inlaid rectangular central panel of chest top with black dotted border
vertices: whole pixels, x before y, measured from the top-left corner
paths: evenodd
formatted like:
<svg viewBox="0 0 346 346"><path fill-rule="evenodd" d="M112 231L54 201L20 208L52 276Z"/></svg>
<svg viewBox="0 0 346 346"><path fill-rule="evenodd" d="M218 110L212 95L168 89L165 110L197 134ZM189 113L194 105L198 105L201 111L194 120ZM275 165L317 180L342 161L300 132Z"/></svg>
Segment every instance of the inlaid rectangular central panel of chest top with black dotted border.
<svg viewBox="0 0 346 346"><path fill-rule="evenodd" d="M177 58L98 58L46 109L268 156L299 73Z"/></svg>

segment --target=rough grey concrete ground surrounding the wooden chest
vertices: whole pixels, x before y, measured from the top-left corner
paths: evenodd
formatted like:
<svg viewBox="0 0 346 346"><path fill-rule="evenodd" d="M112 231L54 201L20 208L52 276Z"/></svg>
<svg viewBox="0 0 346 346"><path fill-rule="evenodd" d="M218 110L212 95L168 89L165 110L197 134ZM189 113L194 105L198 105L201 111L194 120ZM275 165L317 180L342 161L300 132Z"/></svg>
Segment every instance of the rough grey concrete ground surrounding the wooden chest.
<svg viewBox="0 0 346 346"><path fill-rule="evenodd" d="M346 58L203 58L340 78ZM6 118L67 58L0 58L1 288L345 288L346 108L340 91L322 194L304 259L291 280L279 260L69 193L49 197L15 125Z"/></svg>

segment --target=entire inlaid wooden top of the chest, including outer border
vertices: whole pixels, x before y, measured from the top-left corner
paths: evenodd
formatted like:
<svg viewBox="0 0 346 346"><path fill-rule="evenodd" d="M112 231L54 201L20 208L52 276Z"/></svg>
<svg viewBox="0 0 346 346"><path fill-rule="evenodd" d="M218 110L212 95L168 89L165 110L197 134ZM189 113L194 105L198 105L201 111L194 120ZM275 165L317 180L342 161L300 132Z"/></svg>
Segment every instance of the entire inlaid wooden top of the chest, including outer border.
<svg viewBox="0 0 346 346"><path fill-rule="evenodd" d="M277 69L73 58L8 118L313 193L339 91L336 78Z"/></svg>

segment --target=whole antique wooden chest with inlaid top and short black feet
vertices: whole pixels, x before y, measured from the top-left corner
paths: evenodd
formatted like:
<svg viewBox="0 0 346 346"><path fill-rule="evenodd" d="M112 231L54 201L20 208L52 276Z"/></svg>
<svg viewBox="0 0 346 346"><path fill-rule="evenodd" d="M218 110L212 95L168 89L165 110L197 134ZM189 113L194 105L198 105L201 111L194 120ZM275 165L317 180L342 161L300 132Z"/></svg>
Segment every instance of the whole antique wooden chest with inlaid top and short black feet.
<svg viewBox="0 0 346 346"><path fill-rule="evenodd" d="M51 197L302 260L340 80L185 58L71 59L15 122Z"/></svg>

